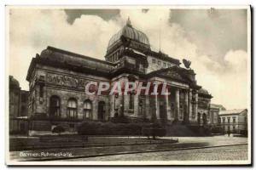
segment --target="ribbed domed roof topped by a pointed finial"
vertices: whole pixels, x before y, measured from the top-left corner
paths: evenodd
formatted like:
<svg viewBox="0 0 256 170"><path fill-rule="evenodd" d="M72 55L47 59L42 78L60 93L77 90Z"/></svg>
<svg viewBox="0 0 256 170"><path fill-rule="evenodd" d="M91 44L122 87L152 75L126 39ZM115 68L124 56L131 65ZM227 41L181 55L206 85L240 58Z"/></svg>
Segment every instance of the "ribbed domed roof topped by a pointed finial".
<svg viewBox="0 0 256 170"><path fill-rule="evenodd" d="M118 42L121 37L126 37L133 41L141 42L150 46L147 35L142 31L138 31L137 29L133 28L129 18L126 22L126 25L120 31L118 31L118 33L114 34L113 37L110 38L108 42L108 49L112 48L114 43Z"/></svg>

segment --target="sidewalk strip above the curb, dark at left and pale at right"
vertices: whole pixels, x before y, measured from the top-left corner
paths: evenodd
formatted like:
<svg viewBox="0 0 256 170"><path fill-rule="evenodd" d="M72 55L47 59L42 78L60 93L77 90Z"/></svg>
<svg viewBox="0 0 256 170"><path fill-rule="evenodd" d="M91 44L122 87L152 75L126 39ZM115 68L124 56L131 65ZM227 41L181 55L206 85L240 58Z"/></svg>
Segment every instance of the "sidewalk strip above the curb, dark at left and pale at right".
<svg viewBox="0 0 256 170"><path fill-rule="evenodd" d="M140 144L91 148L13 151L10 152L10 158L16 161L54 161L80 157L111 156L165 150L206 148L232 144L247 144L246 138L238 137L182 137L178 139L179 143L175 144Z"/></svg>

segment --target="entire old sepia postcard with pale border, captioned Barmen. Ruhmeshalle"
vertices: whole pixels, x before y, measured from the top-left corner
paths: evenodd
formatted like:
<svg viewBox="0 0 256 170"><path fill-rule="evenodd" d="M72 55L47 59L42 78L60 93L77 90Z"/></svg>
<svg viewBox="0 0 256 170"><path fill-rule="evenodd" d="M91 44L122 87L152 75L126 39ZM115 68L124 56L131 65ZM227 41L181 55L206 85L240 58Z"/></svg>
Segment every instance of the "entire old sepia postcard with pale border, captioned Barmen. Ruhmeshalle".
<svg viewBox="0 0 256 170"><path fill-rule="evenodd" d="M7 6L8 165L250 165L250 6Z"/></svg>

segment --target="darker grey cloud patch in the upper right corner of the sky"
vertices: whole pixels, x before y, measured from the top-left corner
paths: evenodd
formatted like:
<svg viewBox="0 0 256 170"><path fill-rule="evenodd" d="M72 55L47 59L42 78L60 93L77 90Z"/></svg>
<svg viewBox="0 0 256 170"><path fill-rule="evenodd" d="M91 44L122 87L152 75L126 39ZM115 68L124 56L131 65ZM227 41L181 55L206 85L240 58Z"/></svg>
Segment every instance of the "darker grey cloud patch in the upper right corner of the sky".
<svg viewBox="0 0 256 170"><path fill-rule="evenodd" d="M172 9L171 22L183 26L199 54L219 63L230 49L247 51L247 9Z"/></svg>

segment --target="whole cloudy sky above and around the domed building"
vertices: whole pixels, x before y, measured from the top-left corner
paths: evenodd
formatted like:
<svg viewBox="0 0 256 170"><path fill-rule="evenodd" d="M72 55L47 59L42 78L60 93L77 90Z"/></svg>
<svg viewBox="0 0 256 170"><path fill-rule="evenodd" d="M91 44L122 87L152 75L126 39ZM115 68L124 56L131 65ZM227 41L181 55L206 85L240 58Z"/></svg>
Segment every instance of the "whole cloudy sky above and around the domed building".
<svg viewBox="0 0 256 170"><path fill-rule="evenodd" d="M47 46L104 59L125 25L148 35L151 48L189 59L198 84L227 109L247 108L247 9L18 9L9 11L9 74L28 89L32 57ZM161 30L161 31L160 31Z"/></svg>

